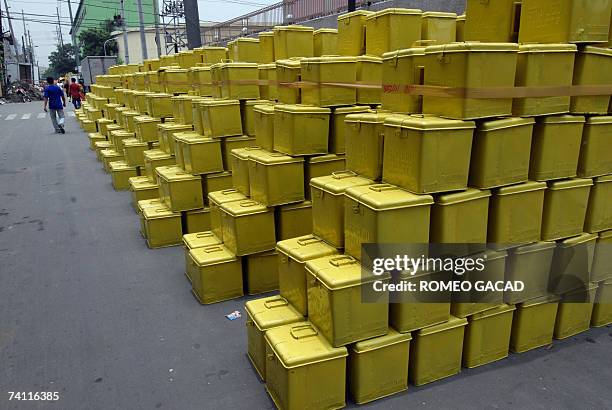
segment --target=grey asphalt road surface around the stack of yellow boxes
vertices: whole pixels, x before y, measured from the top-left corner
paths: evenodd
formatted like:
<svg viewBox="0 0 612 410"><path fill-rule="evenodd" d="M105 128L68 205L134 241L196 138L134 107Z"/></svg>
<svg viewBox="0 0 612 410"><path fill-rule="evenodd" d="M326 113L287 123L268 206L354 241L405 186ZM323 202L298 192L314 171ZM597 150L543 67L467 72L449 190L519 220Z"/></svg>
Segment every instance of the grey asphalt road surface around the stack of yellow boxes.
<svg viewBox="0 0 612 410"><path fill-rule="evenodd" d="M182 249L146 247L74 117L58 135L40 112L0 106L0 409L273 408L244 316L224 317L245 299L199 305ZM598 409L610 386L608 327L364 407Z"/></svg>

